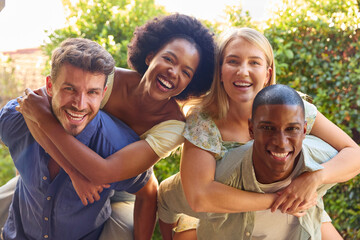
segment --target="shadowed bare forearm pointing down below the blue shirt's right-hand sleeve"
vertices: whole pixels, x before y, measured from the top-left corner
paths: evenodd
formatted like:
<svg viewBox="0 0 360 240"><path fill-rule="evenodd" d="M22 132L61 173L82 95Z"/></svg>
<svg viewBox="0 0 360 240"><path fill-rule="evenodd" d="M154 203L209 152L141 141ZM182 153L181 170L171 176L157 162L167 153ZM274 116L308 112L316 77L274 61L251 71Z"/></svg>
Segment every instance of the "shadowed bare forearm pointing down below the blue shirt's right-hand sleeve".
<svg viewBox="0 0 360 240"><path fill-rule="evenodd" d="M134 239L151 239L156 222L158 182L153 174L147 184L135 195Z"/></svg>

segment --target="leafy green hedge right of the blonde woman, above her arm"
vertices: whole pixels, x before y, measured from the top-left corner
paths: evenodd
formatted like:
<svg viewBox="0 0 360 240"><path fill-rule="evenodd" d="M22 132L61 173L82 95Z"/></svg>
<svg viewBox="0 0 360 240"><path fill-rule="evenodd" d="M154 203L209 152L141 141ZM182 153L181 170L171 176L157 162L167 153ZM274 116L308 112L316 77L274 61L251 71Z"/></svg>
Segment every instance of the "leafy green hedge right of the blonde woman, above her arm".
<svg viewBox="0 0 360 240"><path fill-rule="evenodd" d="M289 1L273 16L264 34L274 48L278 82L310 95L320 112L360 143L356 2Z"/></svg>

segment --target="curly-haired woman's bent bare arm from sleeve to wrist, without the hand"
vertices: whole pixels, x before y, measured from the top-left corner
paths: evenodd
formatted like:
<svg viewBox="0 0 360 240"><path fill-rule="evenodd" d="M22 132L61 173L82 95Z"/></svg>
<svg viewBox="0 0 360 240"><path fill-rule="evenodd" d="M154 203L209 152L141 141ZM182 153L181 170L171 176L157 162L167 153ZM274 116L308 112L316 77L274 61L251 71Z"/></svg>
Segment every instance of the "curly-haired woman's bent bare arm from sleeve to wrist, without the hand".
<svg viewBox="0 0 360 240"><path fill-rule="evenodd" d="M90 181L96 184L122 181L151 167L159 159L145 141L134 142L106 160L67 134L55 120L41 124L47 136L66 159ZM74 150L76 149L76 150Z"/></svg>

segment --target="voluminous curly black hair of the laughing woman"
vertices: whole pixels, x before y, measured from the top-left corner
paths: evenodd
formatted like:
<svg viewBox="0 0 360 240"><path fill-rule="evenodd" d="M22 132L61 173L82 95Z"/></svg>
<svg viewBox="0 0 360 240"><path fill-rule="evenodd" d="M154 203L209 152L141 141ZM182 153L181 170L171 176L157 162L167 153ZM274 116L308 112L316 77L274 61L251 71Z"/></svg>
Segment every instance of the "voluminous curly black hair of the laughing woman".
<svg viewBox="0 0 360 240"><path fill-rule="evenodd" d="M199 20L183 14L156 17L137 27L128 46L128 64L140 74L148 68L146 56L159 51L173 38L192 40L200 54L200 63L189 85L175 99L186 100L206 93L211 86L215 67L214 34Z"/></svg>

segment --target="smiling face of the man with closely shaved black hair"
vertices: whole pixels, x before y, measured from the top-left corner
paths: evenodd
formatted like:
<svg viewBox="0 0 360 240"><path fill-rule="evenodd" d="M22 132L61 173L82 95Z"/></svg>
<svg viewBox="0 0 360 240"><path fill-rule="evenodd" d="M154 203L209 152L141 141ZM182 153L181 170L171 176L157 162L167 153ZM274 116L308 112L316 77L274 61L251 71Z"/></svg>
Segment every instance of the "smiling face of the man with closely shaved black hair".
<svg viewBox="0 0 360 240"><path fill-rule="evenodd" d="M272 183L287 178L296 165L306 134L303 110L297 105L262 105L249 121L254 138L256 178Z"/></svg>

